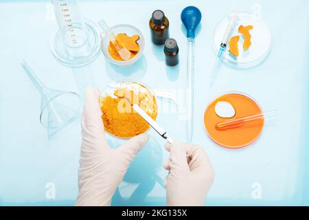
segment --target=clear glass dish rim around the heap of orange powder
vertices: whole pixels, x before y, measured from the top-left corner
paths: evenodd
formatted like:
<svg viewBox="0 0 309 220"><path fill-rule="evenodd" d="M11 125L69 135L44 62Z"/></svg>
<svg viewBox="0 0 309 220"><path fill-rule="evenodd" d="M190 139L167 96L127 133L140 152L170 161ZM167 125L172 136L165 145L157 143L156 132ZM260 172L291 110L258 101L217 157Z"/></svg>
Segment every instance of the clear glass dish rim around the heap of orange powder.
<svg viewBox="0 0 309 220"><path fill-rule="evenodd" d="M104 98L105 96L111 96L113 98L116 98L117 96L114 95L114 91L116 89L126 89L128 88L129 90L130 89L143 89L144 91L146 91L152 98L154 98L154 107L155 107L155 111L157 111L158 113L158 102L157 102L157 97L155 96L155 93L149 88L147 87L146 85L142 84L142 83L137 83L133 80L119 80L115 83L111 83L109 84L103 92L100 92L100 100L102 98ZM100 108L101 108L101 101L100 101ZM157 118L158 115L156 115L156 118ZM156 119L155 118L155 119ZM154 120L155 120L154 119ZM146 133L148 130L150 129L150 126L149 128L144 131L144 133ZM111 135L112 137L117 137L119 139L129 139L131 137L124 137L124 136L117 136L117 135L114 135L113 133L110 133L108 130L105 129L105 132L108 133L109 135ZM132 136L134 137L134 136Z"/></svg>

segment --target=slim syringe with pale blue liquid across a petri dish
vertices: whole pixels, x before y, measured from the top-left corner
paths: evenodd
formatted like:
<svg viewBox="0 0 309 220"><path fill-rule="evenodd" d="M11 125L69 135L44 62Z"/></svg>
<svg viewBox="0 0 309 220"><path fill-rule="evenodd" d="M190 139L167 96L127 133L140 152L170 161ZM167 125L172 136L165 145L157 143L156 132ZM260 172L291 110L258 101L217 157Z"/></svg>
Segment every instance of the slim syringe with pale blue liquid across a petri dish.
<svg viewBox="0 0 309 220"><path fill-rule="evenodd" d="M220 66L220 61L225 53L225 50L227 49L227 43L229 43L229 39L231 38L231 34L233 32L233 29L236 25L236 21L238 19L238 12L233 11L231 14L231 17L229 19L229 23L227 25L227 29L225 30L225 35L223 36L223 39L220 43L219 51L216 56L216 61L214 63L214 67L211 69L210 72L210 85L213 85L214 80L216 79L216 76L218 74L219 66Z"/></svg>

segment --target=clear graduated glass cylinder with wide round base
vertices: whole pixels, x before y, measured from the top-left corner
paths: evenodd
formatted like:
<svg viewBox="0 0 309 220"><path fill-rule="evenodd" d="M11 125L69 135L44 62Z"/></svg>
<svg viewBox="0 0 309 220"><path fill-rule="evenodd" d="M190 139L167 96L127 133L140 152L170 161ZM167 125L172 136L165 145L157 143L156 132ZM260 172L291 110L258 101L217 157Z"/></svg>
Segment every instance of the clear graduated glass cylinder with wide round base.
<svg viewBox="0 0 309 220"><path fill-rule="evenodd" d="M84 19L78 0L52 0L58 28L50 41L54 56L64 65L80 67L91 63L100 52L100 31Z"/></svg>

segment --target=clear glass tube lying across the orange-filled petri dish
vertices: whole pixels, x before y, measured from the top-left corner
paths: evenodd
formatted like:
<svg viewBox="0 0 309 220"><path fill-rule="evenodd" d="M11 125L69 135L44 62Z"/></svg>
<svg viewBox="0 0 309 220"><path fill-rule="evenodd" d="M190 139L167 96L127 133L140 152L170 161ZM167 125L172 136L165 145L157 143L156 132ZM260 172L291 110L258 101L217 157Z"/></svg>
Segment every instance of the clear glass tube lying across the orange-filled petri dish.
<svg viewBox="0 0 309 220"><path fill-rule="evenodd" d="M218 124L216 124L216 129L217 130L236 129L243 126L245 122L251 122L253 120L268 118L275 115L277 115L277 110L265 111L254 115L244 116L241 118L225 120L224 122L219 122Z"/></svg>

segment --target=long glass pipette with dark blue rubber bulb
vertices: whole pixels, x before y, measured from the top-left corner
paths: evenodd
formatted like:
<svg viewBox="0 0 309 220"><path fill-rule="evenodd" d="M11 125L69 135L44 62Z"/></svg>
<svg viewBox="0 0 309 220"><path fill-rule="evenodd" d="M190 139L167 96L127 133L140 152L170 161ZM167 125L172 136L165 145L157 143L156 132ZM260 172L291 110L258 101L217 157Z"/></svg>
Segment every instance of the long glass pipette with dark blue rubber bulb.
<svg viewBox="0 0 309 220"><path fill-rule="evenodd" d="M181 12L181 21L187 29L187 83L188 83L188 107L187 111L187 142L192 141L193 111L194 111L194 38L195 30L201 22L202 14L198 8L188 6Z"/></svg>

